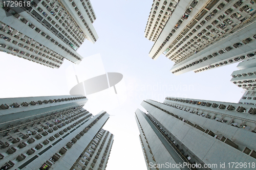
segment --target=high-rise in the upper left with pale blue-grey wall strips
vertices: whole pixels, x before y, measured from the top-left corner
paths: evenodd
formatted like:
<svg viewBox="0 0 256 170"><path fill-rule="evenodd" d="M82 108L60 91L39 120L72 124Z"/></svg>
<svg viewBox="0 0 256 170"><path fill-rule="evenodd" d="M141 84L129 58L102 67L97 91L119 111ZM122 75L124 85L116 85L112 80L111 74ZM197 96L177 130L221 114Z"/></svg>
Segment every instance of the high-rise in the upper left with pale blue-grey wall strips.
<svg viewBox="0 0 256 170"><path fill-rule="evenodd" d="M65 58L78 64L83 41L98 39L89 0L29 1L25 12L6 4L0 3L0 50L8 54L58 68Z"/></svg>

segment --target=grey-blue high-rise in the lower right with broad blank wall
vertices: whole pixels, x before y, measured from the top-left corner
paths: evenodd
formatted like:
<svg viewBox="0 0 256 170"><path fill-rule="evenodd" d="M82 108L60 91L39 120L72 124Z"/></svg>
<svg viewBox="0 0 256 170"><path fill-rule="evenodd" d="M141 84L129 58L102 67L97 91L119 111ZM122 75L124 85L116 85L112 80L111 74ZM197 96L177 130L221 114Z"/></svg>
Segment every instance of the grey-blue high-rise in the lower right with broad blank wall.
<svg viewBox="0 0 256 170"><path fill-rule="evenodd" d="M137 109L135 117L148 169L255 168L252 105L172 97L141 105L147 113Z"/></svg>

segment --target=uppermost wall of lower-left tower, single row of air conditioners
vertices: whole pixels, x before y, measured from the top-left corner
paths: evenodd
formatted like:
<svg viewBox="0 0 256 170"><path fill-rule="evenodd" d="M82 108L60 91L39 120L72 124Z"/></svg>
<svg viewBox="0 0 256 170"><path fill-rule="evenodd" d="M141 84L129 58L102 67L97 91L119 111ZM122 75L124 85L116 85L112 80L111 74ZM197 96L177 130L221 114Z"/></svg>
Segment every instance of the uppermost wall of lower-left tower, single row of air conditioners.
<svg viewBox="0 0 256 170"><path fill-rule="evenodd" d="M84 105L87 101L86 97L72 95L0 99L0 128L3 133L9 131L9 128L14 129L13 126L17 124L31 124L34 119L37 122L41 116ZM9 108L3 109L3 105Z"/></svg>

